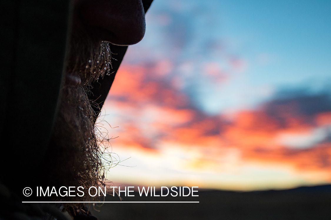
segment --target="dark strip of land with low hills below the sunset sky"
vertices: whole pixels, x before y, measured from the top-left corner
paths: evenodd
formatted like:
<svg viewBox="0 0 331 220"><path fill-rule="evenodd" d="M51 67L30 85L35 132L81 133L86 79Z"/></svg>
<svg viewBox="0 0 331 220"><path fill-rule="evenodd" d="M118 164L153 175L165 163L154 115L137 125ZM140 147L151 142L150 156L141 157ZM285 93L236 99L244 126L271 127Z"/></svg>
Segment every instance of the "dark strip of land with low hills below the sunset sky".
<svg viewBox="0 0 331 220"><path fill-rule="evenodd" d="M131 194L131 193L130 193ZM124 197L124 201L199 201L200 203L105 203L89 209L99 220L122 219L331 219L331 185L289 190L235 192L203 190L199 197ZM161 192L156 192L160 195ZM106 196L105 201L119 201ZM88 206L88 205L87 205Z"/></svg>

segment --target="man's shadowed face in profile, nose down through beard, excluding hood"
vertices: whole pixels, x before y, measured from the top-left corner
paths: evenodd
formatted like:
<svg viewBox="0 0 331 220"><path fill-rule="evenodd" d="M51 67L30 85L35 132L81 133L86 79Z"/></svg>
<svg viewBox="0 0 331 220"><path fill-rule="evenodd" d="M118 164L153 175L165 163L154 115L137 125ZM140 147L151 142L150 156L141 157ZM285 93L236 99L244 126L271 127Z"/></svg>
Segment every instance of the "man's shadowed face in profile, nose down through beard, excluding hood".
<svg viewBox="0 0 331 220"><path fill-rule="evenodd" d="M145 33L141 0L75 0L65 83L45 163L53 170L46 184L96 186L104 181L95 135L96 114L88 99L91 82L110 74L110 44L131 45ZM109 43L108 43L109 42ZM83 198L84 199L84 198Z"/></svg>

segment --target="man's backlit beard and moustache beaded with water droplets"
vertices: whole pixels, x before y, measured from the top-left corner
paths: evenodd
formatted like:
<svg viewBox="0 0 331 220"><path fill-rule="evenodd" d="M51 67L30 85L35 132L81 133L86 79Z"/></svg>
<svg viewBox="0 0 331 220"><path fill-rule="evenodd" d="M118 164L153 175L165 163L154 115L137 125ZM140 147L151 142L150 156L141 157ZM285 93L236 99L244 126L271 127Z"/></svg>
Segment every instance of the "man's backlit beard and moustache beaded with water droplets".
<svg viewBox="0 0 331 220"><path fill-rule="evenodd" d="M61 98L55 126L47 151L49 167L46 185L82 186L83 197L54 197L54 200L95 201L86 192L91 186L105 183L102 151L96 136L96 114L88 99L91 82L109 74L111 53L108 42L84 37L71 37L66 61L66 82L61 88ZM45 184L44 184L45 185ZM45 186L46 186L45 185ZM78 207L79 204L69 206Z"/></svg>

